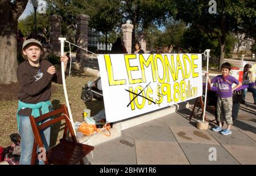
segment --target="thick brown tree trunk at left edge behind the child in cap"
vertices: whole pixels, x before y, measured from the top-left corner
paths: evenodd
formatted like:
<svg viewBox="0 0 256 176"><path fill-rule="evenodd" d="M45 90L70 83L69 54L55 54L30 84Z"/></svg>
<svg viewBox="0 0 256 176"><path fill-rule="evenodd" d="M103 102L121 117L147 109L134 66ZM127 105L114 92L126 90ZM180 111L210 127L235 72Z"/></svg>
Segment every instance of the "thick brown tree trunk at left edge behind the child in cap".
<svg viewBox="0 0 256 176"><path fill-rule="evenodd" d="M0 1L0 83L17 82L18 19L28 0Z"/></svg>

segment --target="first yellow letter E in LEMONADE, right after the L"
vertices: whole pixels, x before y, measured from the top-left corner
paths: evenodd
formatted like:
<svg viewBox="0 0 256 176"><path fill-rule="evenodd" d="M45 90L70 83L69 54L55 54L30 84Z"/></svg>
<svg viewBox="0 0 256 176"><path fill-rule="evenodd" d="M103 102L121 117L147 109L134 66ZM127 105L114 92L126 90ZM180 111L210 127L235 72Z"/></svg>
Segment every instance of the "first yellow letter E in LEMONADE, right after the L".
<svg viewBox="0 0 256 176"><path fill-rule="evenodd" d="M129 84L137 84L137 83L142 83L142 79L133 79L131 76L131 71L138 71L139 68L138 66L130 66L130 59L136 59L137 56L136 54L125 54L125 64L126 64L126 69L127 69L127 74L128 74L128 79L129 79Z"/></svg>

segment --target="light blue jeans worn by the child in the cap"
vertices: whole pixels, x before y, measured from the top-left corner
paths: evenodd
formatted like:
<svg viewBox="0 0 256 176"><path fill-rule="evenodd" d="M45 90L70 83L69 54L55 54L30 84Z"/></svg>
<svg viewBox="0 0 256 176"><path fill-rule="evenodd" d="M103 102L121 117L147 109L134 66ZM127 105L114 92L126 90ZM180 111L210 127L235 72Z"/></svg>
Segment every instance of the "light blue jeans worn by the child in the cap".
<svg viewBox="0 0 256 176"><path fill-rule="evenodd" d="M19 123L19 134L20 134L20 165L30 165L32 149L34 145L34 134L32 131L30 118L28 116L20 116ZM44 148L49 148L49 139L51 134L51 127L46 128L45 130L40 131L41 138L43 140ZM43 161L39 161L39 165L43 165Z"/></svg>

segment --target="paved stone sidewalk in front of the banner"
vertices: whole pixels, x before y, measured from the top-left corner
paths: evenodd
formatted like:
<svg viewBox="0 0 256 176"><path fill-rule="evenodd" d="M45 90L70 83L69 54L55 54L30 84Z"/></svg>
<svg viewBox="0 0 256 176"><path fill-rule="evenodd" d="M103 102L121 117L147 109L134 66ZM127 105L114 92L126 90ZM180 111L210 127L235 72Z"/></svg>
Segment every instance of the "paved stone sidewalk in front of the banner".
<svg viewBox="0 0 256 176"><path fill-rule="evenodd" d="M196 128L201 109L189 121L190 105L181 111L122 130L118 138L95 145L93 154L85 158L85 163L256 164L256 106L250 92L246 101L249 106L240 106L232 135L224 136L210 130L215 122L210 123L207 131ZM214 119L208 111L206 115L208 119ZM209 156L212 158L214 151L217 160L210 161Z"/></svg>

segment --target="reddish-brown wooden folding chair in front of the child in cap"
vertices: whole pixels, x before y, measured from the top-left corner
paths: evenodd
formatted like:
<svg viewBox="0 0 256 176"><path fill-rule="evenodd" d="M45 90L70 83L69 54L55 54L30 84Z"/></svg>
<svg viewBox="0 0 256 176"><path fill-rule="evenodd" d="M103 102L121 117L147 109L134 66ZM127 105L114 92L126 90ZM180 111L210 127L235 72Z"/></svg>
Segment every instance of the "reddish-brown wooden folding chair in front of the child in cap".
<svg viewBox="0 0 256 176"><path fill-rule="evenodd" d="M60 115L57 115L60 114ZM57 117L52 118L53 115L57 115ZM52 118L52 119L49 119ZM63 138L60 139L60 143L51 147L46 151L46 161L45 164L60 164L60 165L69 165L69 164L77 164L80 161L80 164L84 164L82 158L84 158L90 151L94 149L94 147L90 145L85 145L81 143L77 143L75 133L73 131L71 122L69 121L68 110L65 105L61 105L60 109L53 110L47 114L40 115L37 118L34 118L32 115L30 116L30 122L32 126L32 130L35 136L31 164L36 163L37 157L37 148L44 147L43 141L40 136L39 131L51 126L54 123L65 120L64 134ZM37 125L38 122L45 121L49 119L49 121L42 123L41 125ZM68 131L71 134L72 141L67 140Z"/></svg>

